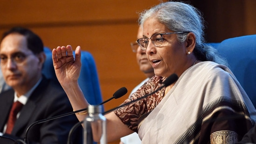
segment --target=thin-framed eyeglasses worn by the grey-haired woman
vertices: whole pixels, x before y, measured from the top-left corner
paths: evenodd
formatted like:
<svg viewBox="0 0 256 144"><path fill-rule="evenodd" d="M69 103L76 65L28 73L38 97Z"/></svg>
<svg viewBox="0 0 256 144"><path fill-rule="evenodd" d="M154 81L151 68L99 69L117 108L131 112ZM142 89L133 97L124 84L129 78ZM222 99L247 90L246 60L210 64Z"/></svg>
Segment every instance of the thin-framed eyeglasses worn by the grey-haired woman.
<svg viewBox="0 0 256 144"><path fill-rule="evenodd" d="M189 33L189 32L173 32L173 33L165 33L165 34L183 34L183 33ZM163 41L164 41L163 35L165 34L153 34L150 38L145 38L145 37L140 38L137 40L138 45L142 50L146 50L149 40L151 40L156 47L160 47L163 44Z"/></svg>

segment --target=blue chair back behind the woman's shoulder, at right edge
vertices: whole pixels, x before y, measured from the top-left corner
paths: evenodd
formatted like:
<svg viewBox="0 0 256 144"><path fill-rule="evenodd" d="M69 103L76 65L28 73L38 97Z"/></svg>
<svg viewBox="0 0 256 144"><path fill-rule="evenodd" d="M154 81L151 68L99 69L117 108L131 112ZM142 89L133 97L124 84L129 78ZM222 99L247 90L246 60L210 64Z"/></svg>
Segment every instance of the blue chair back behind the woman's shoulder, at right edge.
<svg viewBox="0 0 256 144"><path fill-rule="evenodd" d="M256 107L256 34L226 39L215 48Z"/></svg>

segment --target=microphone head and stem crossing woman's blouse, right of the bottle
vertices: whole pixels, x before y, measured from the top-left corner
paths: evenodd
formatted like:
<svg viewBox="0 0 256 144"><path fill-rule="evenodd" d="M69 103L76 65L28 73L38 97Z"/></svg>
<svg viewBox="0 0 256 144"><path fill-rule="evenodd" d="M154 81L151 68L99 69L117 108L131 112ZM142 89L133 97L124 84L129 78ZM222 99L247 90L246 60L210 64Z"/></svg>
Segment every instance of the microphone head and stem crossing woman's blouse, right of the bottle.
<svg viewBox="0 0 256 144"><path fill-rule="evenodd" d="M131 101L131 102L121 104L120 106L118 106L118 107L116 107L116 108L113 108L113 109L111 109L111 110L107 110L107 111L105 111L105 112L102 113L102 114L105 115L105 114L107 114L107 113L109 113L109 112L111 112L111 111L113 111L113 110L119 109L119 108L121 108L121 107L123 107L123 106L125 106L125 105L129 105L129 104L134 103L134 102L136 102L136 101L138 101L138 100L140 100L140 99L146 98L147 96L150 96L150 95L156 93L156 92L159 91L160 89L171 85L173 82L175 82L175 81L177 81L177 80L178 80L178 75L172 74L172 75L170 75L169 77L166 78L166 80L163 82L163 85L162 85L161 87L159 87L158 89L156 89L156 90L153 91L152 93L147 94L147 95L145 95L145 96L141 96L141 97L139 97L139 98L137 98L137 99L135 99L135 100L133 100L133 101Z"/></svg>

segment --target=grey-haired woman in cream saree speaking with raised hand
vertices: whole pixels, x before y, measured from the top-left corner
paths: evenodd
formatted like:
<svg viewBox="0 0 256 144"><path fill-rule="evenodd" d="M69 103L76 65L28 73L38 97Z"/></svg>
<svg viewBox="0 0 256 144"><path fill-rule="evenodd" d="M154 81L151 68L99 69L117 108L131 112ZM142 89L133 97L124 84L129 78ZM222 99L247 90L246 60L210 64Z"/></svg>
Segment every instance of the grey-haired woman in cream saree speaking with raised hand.
<svg viewBox="0 0 256 144"><path fill-rule="evenodd" d="M192 6L161 3L140 15L146 50L156 76L145 82L125 103L161 87L172 74L179 79L166 88L105 115L107 139L138 132L143 144L233 144L253 126L255 108L218 56L204 44L203 20ZM74 110L88 106L77 79L81 48L75 59L71 46L53 50L55 72ZM84 115L82 115L84 114ZM76 114L80 121L84 113ZM94 129L93 129L94 130ZM99 140L100 136L95 136Z"/></svg>

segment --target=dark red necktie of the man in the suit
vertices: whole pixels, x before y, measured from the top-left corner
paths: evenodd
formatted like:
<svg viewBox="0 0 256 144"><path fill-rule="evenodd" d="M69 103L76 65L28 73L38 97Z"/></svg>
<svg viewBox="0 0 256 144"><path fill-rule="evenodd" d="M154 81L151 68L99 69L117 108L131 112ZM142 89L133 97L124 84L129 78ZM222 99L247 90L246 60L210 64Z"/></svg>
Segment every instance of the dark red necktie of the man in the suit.
<svg viewBox="0 0 256 144"><path fill-rule="evenodd" d="M6 128L7 134L11 134L11 132L14 128L14 123L17 119L17 114L21 110L22 106L23 106L23 104L20 103L19 101L13 103L13 107L10 111L10 115L9 115L8 122L7 122L7 128Z"/></svg>

